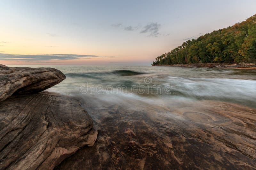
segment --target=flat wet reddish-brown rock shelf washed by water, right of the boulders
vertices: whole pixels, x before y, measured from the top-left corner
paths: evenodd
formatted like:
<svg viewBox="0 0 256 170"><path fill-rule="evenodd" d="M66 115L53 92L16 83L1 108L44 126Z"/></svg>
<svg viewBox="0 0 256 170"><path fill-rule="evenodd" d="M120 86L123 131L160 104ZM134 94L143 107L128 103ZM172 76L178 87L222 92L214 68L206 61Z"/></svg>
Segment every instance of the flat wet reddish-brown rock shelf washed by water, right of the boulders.
<svg viewBox="0 0 256 170"><path fill-rule="evenodd" d="M101 126L56 169L255 169L256 109L215 101L165 108L166 114L120 106L89 114ZM171 112L172 114L170 115Z"/></svg>

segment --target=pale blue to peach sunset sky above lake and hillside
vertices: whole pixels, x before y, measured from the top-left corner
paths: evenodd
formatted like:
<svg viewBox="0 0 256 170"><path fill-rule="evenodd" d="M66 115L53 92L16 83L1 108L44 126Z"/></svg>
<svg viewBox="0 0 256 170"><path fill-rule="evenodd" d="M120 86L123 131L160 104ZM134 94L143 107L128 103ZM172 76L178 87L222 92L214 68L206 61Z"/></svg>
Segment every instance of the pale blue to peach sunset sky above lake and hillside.
<svg viewBox="0 0 256 170"><path fill-rule="evenodd" d="M255 13L255 0L1 0L0 64L146 66Z"/></svg>

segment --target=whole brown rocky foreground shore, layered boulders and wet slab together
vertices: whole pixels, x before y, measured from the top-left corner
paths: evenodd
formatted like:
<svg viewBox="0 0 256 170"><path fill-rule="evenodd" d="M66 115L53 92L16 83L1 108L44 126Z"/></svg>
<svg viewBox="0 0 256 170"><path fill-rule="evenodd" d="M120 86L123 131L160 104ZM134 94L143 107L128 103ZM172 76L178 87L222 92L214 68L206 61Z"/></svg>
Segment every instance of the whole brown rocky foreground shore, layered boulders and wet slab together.
<svg viewBox="0 0 256 170"><path fill-rule="evenodd" d="M55 68L0 65L1 169L256 166L254 107L214 100L153 105L135 98L125 101L130 105L111 98L98 104L93 96L44 91L65 78Z"/></svg>

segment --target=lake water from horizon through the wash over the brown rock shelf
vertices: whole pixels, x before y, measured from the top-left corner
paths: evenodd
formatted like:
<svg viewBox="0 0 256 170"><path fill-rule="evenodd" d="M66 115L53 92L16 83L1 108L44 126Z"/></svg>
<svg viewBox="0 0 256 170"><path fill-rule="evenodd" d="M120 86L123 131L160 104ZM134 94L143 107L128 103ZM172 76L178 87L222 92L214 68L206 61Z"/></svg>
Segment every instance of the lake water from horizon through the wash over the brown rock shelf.
<svg viewBox="0 0 256 170"><path fill-rule="evenodd" d="M256 70L28 67L61 70L67 78L47 91L78 98L99 129L95 146L80 149L60 169L90 162L99 169L256 166Z"/></svg>

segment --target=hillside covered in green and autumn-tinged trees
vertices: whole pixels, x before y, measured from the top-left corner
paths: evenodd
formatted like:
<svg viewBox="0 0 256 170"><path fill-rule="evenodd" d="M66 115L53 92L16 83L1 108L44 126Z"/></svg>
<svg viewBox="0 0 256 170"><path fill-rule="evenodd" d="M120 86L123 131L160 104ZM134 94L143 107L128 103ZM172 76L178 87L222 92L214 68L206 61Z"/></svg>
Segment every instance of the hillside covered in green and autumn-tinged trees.
<svg viewBox="0 0 256 170"><path fill-rule="evenodd" d="M241 23L188 40L153 65L256 62L256 14Z"/></svg>

